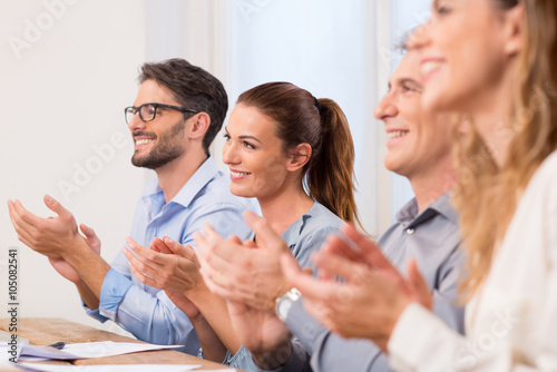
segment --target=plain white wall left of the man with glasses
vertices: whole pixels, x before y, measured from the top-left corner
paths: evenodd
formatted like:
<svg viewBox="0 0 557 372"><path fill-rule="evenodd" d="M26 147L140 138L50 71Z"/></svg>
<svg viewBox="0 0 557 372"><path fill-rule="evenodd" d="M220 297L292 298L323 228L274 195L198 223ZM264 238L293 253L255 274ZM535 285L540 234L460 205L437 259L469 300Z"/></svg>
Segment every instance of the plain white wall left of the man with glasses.
<svg viewBox="0 0 557 372"><path fill-rule="evenodd" d="M129 161L123 114L135 99L145 56L144 3L65 1L10 1L0 12L0 199L18 198L49 216L42 196L50 194L78 223L97 229L102 256L111 261L130 229L145 179ZM40 35L32 32L36 27ZM117 147L113 136L120 138ZM105 159L94 149L102 145ZM79 167L94 174L76 183ZM62 192L65 182L79 190ZM99 324L85 315L74 285L17 239L8 208L0 213L0 304L8 302L7 252L18 247L20 316Z"/></svg>

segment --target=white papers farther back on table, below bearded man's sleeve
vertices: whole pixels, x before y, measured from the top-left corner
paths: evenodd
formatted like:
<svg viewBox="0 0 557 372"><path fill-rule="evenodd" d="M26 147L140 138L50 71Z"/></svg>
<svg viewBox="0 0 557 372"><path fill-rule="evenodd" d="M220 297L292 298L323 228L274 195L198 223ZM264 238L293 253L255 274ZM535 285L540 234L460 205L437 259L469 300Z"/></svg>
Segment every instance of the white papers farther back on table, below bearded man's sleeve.
<svg viewBox="0 0 557 372"><path fill-rule="evenodd" d="M114 342L114 341L99 341L99 342L82 342L67 344L62 350L49 346L38 345L23 345L18 361L41 359L56 359L56 360L76 360L88 358L104 358L129 353L137 353L140 351L163 350L163 349L177 349L182 345L155 345L149 343L136 342Z"/></svg>

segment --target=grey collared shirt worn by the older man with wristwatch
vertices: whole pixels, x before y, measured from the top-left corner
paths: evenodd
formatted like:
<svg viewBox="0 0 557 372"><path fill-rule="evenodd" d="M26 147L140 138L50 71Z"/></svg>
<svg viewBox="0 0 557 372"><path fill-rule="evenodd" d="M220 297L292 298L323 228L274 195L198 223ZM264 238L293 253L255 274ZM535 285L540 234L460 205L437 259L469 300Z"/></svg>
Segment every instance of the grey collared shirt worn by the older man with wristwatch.
<svg viewBox="0 0 557 372"><path fill-rule="evenodd" d="M409 258L417 261L433 292L434 313L463 333L465 309L456 302L465 255L459 249L458 215L449 194L419 214L416 199L410 200L378 245L402 273ZM277 371L390 371L387 355L374 343L330 332L305 312L302 298L291 307L286 325L296 342L291 360Z"/></svg>

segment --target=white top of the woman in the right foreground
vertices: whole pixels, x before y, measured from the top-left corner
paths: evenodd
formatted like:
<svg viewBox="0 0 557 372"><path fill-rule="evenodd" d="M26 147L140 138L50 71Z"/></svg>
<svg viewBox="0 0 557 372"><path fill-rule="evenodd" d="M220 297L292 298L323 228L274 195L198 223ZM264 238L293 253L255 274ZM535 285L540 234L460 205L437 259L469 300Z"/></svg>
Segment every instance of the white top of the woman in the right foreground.
<svg viewBox="0 0 557 372"><path fill-rule="evenodd" d="M530 179L492 268L467 307L467 336L412 304L389 341L391 368L557 371L556 263L557 151Z"/></svg>

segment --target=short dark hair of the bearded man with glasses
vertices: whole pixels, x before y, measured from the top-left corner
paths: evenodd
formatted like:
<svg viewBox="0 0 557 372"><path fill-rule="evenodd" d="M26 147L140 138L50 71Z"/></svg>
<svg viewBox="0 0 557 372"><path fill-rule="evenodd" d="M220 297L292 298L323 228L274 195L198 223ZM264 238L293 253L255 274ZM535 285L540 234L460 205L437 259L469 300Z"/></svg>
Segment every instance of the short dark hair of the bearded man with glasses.
<svg viewBox="0 0 557 372"><path fill-rule="evenodd" d="M221 130L228 110L228 97L223 84L201 67L180 58L143 65L138 80L139 84L155 80L170 89L183 107L207 112L211 125L203 137L203 147L208 155L208 148Z"/></svg>

